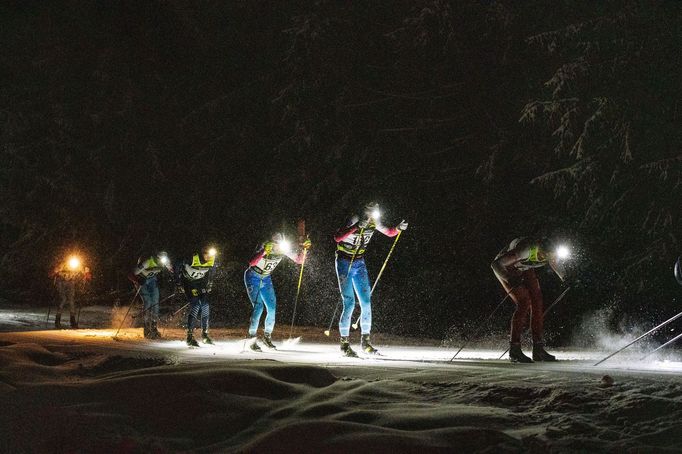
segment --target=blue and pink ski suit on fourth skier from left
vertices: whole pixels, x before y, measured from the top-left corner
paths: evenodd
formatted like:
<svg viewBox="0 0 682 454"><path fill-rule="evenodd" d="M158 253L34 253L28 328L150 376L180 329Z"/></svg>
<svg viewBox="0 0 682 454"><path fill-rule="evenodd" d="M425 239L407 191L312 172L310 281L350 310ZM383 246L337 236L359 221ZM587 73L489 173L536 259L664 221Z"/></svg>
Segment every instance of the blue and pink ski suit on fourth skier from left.
<svg viewBox="0 0 682 454"><path fill-rule="evenodd" d="M251 260L249 260L249 267L244 272L244 285L253 306L249 324L249 336L251 337L255 336L258 331L263 308L267 314L265 316L265 334L272 334L272 330L275 328L277 297L272 285L271 274L285 256L299 265L303 263L303 249L298 254L266 254L265 243L256 249Z"/></svg>

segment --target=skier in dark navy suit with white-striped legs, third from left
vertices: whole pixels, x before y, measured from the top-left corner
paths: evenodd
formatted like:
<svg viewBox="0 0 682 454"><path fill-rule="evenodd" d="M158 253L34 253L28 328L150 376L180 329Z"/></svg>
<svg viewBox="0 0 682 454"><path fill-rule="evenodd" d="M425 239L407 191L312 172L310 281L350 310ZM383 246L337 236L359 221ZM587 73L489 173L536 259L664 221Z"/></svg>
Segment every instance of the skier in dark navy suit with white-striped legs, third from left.
<svg viewBox="0 0 682 454"><path fill-rule="evenodd" d="M213 344L208 336L209 305L208 294L213 287L215 275L216 250L204 247L200 253L195 253L191 260L178 262L173 270L178 290L184 292L189 300L189 315L187 316L187 345L198 347L194 339L194 321L201 317L201 341Z"/></svg>

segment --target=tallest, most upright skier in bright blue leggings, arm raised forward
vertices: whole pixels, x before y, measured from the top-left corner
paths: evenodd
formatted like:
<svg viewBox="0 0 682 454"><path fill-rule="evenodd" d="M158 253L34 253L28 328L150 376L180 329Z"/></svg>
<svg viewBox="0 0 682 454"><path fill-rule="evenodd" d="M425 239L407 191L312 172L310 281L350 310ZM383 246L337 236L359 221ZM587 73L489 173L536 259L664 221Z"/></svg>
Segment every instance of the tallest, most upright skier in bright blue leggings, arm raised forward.
<svg viewBox="0 0 682 454"><path fill-rule="evenodd" d="M363 219L357 215L352 216L334 235L336 241L336 276L343 299L339 333L341 335L341 351L345 356L357 356L348 340L356 294L360 301L362 334L360 346L365 353L378 353L370 343L372 301L371 285L365 265L365 251L375 231L379 231L388 237L394 237L398 232L407 229L407 222L404 220L396 227L384 227L380 223L380 217L379 205L369 203L365 206Z"/></svg>

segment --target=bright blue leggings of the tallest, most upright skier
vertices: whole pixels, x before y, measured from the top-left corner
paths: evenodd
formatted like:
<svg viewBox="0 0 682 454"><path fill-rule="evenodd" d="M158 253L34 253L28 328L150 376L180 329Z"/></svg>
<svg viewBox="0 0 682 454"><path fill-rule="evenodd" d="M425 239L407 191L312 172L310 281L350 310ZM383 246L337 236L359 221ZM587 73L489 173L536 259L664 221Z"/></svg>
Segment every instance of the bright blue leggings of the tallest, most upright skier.
<svg viewBox="0 0 682 454"><path fill-rule="evenodd" d="M355 295L360 301L360 328L362 334L369 334L372 330L372 288L369 285L369 275L365 266L365 259L353 261L350 272L350 259L336 258L336 277L339 280L339 290L343 299L343 312L339 318L339 333L342 337L350 334L351 317L355 309Z"/></svg>

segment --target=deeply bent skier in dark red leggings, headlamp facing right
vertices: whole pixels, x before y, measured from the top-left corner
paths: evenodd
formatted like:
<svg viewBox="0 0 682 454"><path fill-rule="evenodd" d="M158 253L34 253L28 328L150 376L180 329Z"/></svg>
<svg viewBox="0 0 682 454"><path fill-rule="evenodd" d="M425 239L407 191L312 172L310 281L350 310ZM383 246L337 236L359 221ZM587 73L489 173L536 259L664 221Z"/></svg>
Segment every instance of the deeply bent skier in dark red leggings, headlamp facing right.
<svg viewBox="0 0 682 454"><path fill-rule="evenodd" d="M512 362L556 361L545 351L543 342L543 303L536 268L549 265L563 281L557 256L548 239L516 238L500 251L491 266L495 276L516 303L511 321L509 358ZM530 311L533 335L533 360L521 350L521 334L528 326Z"/></svg>

